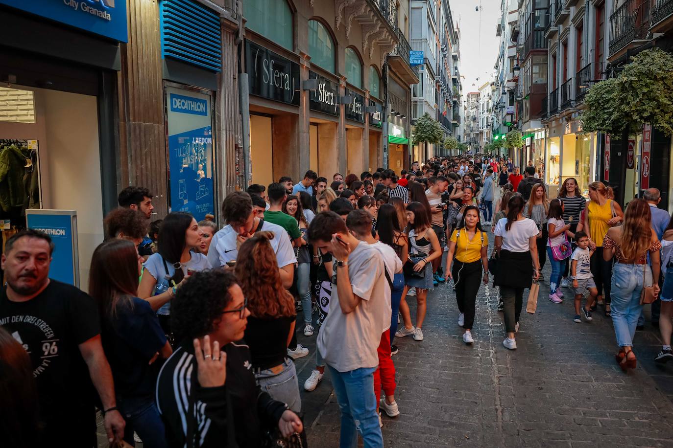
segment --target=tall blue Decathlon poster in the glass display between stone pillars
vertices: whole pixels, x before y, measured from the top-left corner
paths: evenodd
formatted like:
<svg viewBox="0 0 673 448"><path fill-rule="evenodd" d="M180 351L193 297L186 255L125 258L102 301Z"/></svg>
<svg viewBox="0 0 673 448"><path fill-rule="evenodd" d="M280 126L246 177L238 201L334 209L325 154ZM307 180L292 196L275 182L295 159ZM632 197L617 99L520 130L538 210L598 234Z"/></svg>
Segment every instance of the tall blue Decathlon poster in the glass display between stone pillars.
<svg viewBox="0 0 673 448"><path fill-rule="evenodd" d="M170 211L215 214L211 95L166 85Z"/></svg>

